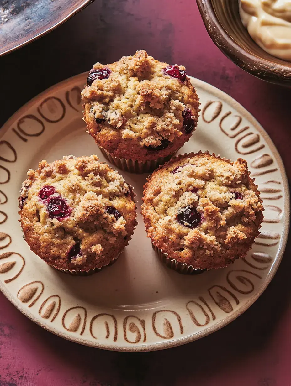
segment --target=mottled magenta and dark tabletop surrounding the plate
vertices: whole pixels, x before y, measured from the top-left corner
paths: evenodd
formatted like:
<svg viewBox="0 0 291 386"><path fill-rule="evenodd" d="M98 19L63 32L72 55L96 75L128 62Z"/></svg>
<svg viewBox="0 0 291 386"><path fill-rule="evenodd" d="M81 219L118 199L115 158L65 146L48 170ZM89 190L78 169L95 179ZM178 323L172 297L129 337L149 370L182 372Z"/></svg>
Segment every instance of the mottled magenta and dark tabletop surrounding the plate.
<svg viewBox="0 0 291 386"><path fill-rule="evenodd" d="M236 0L233 0L236 1ZM96 0L0 58L3 124L37 93L95 61L146 49L225 91L267 130L291 177L291 90L237 68L209 38L194 0ZM43 330L0 294L0 386L291 386L291 246L269 287L230 325L148 353L109 352Z"/></svg>

